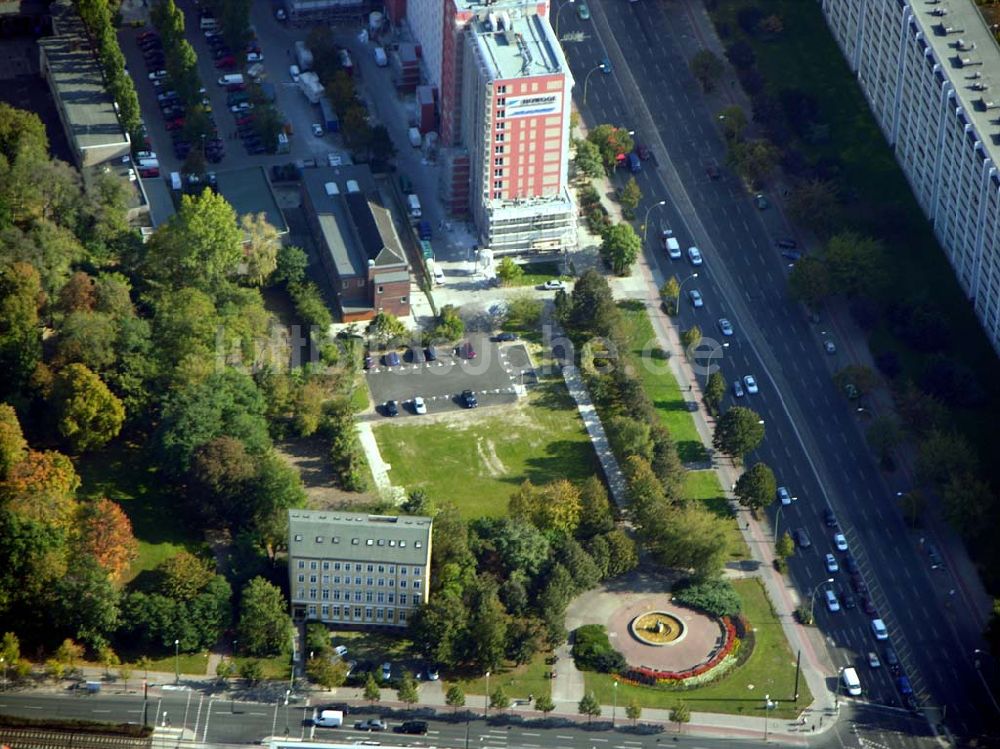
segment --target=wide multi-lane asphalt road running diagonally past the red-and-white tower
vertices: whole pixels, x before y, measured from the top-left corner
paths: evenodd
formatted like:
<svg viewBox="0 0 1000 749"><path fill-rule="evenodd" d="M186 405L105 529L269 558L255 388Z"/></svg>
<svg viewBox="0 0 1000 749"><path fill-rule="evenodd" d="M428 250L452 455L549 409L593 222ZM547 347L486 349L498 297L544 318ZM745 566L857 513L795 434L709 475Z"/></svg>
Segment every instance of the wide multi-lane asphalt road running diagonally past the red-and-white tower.
<svg viewBox="0 0 1000 749"><path fill-rule="evenodd" d="M561 35L583 33L565 44L578 84L605 58L615 67L610 76L590 76L585 119L635 129L637 141L652 147L665 172L663 179L646 162L636 175L645 196L637 214L665 199L664 207L652 210L647 257L679 279L699 273L685 281L683 292L698 288L705 306L694 310L682 301L681 327L697 323L712 335L716 320L725 316L736 328L729 339L715 333L730 345L711 364L720 365L729 382L753 374L760 385L759 394L740 399L761 414L767 429L749 461L770 465L778 483L798 498L778 520L779 531L803 528L813 541L791 561L802 598L831 576L838 590L849 587L844 571L830 575L823 563L823 555L835 551L822 515L829 504L928 717L938 721L944 715L960 734L986 730L996 725L996 712L974 664L980 632L973 617L951 608L949 591L957 584L950 573L930 570L919 534L900 517L895 494L910 487L899 476L887 481L880 474L865 445L863 415L832 384L832 373L848 362L844 346L836 356L825 354L826 323L810 323L787 298L788 261L774 238L788 236L788 229L775 211L757 210L733 175L723 170L719 181L706 175L707 164L725 162L725 147L716 113L688 70L687 60L701 45L687 5L613 0L592 3L590 21L562 14ZM686 258L669 260L655 236L661 223L674 229L683 248L697 244L705 264L694 268ZM888 670L862 665L868 651L882 652L870 617L860 609L827 612L822 601L816 616L832 667L857 666L868 700L899 704ZM832 671L831 688L835 676Z"/></svg>

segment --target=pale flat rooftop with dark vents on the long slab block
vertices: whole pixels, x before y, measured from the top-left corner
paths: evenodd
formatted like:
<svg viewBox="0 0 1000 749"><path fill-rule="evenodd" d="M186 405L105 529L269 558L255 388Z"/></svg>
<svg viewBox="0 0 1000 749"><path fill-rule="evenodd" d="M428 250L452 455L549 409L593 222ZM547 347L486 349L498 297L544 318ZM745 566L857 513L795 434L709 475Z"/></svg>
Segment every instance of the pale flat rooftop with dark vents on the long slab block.
<svg viewBox="0 0 1000 749"><path fill-rule="evenodd" d="M911 10L987 154L1000 162L1000 48L979 9L972 0L950 0Z"/></svg>

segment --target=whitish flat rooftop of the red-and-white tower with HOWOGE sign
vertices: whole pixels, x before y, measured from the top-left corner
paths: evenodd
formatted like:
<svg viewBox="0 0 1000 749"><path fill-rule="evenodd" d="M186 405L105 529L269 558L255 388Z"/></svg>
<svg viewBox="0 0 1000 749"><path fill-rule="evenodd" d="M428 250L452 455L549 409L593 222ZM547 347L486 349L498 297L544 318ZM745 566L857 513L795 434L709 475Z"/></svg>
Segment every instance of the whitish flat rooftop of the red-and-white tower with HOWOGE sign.
<svg viewBox="0 0 1000 749"><path fill-rule="evenodd" d="M555 34L545 16L481 13L470 24L480 57L491 79L552 75L567 70Z"/></svg>

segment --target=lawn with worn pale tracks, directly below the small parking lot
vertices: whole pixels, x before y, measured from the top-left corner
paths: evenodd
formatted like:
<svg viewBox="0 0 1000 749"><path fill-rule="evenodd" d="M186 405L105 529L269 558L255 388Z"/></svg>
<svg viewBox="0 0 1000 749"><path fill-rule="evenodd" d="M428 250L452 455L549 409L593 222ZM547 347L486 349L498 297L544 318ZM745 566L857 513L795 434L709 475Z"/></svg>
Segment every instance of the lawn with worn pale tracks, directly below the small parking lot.
<svg viewBox="0 0 1000 749"><path fill-rule="evenodd" d="M389 479L454 502L468 518L499 516L525 479L584 479L600 471L597 458L561 380L543 381L526 399L496 410L439 423L407 419L375 427Z"/></svg>

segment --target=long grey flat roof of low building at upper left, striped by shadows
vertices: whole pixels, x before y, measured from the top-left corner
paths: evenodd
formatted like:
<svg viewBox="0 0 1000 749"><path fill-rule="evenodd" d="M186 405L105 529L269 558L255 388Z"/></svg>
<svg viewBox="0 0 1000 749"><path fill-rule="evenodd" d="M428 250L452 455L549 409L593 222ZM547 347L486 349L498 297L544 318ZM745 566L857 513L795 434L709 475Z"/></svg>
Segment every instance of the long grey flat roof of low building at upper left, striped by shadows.
<svg viewBox="0 0 1000 749"><path fill-rule="evenodd" d="M128 143L86 27L68 2L52 4L53 36L38 40L62 102L69 136L81 151Z"/></svg>

